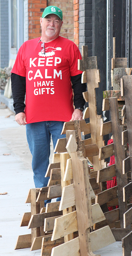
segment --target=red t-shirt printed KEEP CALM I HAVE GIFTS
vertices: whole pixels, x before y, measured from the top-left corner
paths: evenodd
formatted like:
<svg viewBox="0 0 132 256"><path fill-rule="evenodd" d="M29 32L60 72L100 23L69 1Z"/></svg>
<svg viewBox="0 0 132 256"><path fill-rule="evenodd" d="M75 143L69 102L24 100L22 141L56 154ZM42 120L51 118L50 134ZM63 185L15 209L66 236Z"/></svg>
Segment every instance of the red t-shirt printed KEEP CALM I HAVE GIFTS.
<svg viewBox="0 0 132 256"><path fill-rule="evenodd" d="M78 70L80 51L72 41L59 36L45 43L44 55L39 40L22 44L11 71L26 77L26 121L68 122L74 111L70 77L82 73Z"/></svg>

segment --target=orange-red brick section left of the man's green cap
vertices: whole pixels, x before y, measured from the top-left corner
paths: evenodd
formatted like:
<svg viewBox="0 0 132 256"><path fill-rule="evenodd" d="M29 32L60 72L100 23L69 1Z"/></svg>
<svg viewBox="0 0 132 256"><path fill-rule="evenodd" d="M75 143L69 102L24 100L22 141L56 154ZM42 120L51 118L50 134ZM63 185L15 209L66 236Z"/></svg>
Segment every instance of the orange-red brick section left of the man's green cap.
<svg viewBox="0 0 132 256"><path fill-rule="evenodd" d="M40 17L47 7L47 0L28 0L28 39L41 36Z"/></svg>

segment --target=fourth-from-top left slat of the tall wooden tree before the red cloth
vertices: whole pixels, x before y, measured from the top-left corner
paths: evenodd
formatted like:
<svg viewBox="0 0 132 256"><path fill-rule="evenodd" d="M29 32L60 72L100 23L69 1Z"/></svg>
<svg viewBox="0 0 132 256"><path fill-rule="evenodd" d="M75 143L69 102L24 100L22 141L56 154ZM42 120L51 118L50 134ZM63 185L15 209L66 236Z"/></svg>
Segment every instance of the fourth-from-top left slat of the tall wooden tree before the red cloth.
<svg viewBox="0 0 132 256"><path fill-rule="evenodd" d="M113 180L113 177L116 176L116 168L115 167L116 167L115 165L110 165L106 168L98 170L97 183L103 182L103 181L108 181L108 180Z"/></svg>

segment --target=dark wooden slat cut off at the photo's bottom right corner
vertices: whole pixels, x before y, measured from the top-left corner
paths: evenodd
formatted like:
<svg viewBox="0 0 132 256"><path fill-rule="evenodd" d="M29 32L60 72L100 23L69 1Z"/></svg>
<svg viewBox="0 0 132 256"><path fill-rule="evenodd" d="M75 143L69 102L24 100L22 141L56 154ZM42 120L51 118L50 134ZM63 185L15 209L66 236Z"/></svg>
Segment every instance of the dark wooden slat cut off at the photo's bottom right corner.
<svg viewBox="0 0 132 256"><path fill-rule="evenodd" d="M122 238L122 255L129 256L132 251L132 231Z"/></svg>

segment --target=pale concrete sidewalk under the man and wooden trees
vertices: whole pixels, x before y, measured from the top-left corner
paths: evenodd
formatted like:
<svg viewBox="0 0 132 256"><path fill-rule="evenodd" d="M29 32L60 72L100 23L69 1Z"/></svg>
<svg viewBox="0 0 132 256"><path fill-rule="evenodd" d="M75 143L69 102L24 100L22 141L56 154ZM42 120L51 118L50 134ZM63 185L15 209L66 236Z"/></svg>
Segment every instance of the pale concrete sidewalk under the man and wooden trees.
<svg viewBox="0 0 132 256"><path fill-rule="evenodd" d="M51 145L50 163L52 154ZM31 233L27 227L19 227L23 213L30 212L30 204L24 202L29 189L34 188L31 161L25 126L15 122L15 115L8 108L0 109L0 193L8 193L0 195L0 256L36 256L41 252L31 252L30 248L14 250L18 235ZM106 246L96 254L122 256L121 242Z"/></svg>

